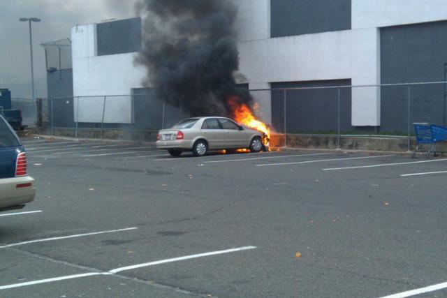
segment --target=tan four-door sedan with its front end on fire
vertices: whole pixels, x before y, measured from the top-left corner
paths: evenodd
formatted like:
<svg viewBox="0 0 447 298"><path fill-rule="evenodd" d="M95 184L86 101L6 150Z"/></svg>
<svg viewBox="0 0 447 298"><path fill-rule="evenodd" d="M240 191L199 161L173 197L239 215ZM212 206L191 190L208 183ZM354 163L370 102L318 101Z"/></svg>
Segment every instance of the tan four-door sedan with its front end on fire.
<svg viewBox="0 0 447 298"><path fill-rule="evenodd" d="M247 148L251 152L265 149L264 134L237 124L225 117L188 118L163 129L157 135L156 147L168 149L172 156L192 151L204 156L209 150Z"/></svg>

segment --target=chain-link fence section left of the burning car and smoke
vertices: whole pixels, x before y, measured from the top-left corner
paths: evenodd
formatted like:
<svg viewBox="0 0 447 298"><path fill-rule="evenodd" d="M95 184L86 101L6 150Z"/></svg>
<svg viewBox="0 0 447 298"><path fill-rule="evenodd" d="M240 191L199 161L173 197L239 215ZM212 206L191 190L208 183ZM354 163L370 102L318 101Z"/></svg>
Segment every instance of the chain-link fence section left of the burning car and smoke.
<svg viewBox="0 0 447 298"><path fill-rule="evenodd" d="M52 135L156 140L156 133L188 117L152 94L47 98L46 132ZM45 123L45 121L42 121Z"/></svg>

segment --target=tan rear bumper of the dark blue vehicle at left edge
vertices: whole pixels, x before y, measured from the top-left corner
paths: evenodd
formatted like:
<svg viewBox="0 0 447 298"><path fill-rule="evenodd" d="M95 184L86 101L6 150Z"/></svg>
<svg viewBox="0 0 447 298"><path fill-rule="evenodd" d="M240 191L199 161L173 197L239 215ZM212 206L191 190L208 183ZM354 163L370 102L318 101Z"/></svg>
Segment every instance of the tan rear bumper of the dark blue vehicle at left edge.
<svg viewBox="0 0 447 298"><path fill-rule="evenodd" d="M0 179L0 209L31 202L34 195L36 187L33 177Z"/></svg>

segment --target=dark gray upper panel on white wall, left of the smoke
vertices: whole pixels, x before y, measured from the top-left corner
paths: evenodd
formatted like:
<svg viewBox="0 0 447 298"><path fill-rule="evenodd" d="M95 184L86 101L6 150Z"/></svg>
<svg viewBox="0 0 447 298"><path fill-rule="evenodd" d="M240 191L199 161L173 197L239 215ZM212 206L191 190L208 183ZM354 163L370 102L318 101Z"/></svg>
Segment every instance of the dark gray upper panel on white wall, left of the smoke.
<svg viewBox="0 0 447 298"><path fill-rule="evenodd" d="M140 52L141 18L96 24L98 56Z"/></svg>

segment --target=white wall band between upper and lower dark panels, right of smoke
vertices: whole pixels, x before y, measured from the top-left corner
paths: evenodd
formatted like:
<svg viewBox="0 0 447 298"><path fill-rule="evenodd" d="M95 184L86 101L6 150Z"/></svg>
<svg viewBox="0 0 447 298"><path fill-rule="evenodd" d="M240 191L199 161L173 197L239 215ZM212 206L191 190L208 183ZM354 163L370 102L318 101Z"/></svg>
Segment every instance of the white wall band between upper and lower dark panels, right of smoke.
<svg viewBox="0 0 447 298"><path fill-rule="evenodd" d="M351 31L238 43L249 82L335 80L351 77Z"/></svg>

